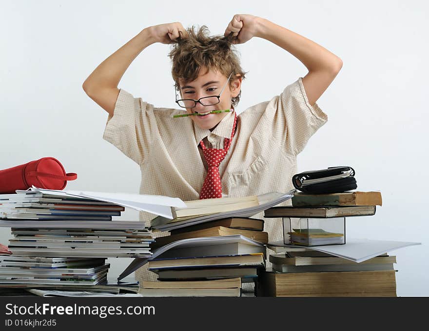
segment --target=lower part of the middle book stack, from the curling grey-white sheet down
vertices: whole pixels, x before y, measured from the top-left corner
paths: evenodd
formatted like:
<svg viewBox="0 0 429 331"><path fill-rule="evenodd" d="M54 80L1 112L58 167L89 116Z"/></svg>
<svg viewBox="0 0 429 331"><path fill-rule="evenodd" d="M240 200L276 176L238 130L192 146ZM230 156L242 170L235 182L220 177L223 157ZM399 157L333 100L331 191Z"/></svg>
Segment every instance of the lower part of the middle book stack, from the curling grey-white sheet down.
<svg viewBox="0 0 429 331"><path fill-rule="evenodd" d="M241 234L181 239L154 250L149 259L135 259L119 279L148 263L148 270L157 274L158 285L147 283L151 290L141 292L145 296L162 296L167 292L160 291L157 294L155 289L165 289L164 286L169 286L170 290L175 289L175 286L187 289L177 290L177 295L186 292L187 296L205 296L206 293L210 296L223 296L224 283L215 282L215 288L212 288L210 281L228 281L231 278L240 278L240 288L254 292L258 272L265 269L265 252L266 247L262 243ZM174 282L179 283L173 284ZM142 288L145 286L143 283ZM205 292L201 289L212 290ZM229 290L228 295L235 293L240 296L240 293L231 291L233 290Z"/></svg>

